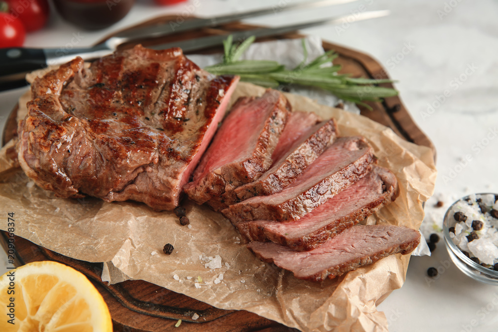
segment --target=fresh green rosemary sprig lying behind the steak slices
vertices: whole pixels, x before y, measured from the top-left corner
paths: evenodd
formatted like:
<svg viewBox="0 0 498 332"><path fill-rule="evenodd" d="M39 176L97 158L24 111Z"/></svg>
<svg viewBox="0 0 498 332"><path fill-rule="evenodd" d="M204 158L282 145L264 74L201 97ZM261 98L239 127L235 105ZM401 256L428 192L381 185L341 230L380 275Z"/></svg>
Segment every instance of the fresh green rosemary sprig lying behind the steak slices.
<svg viewBox="0 0 498 332"><path fill-rule="evenodd" d="M340 75L340 65L323 67L326 63L333 63L339 56L334 51L328 51L310 63L306 64L308 50L302 41L304 59L294 69L287 70L277 61L271 60L239 60L242 54L254 42L251 36L240 45L233 43L232 35L223 42L223 62L206 67L213 74L240 75L241 80L260 86L276 88L281 84L297 84L312 86L329 91L345 101L371 107L364 102L381 101L382 98L396 96L398 92L391 88L378 87L381 83L392 83L392 80L373 80L368 78L352 78L349 75Z"/></svg>

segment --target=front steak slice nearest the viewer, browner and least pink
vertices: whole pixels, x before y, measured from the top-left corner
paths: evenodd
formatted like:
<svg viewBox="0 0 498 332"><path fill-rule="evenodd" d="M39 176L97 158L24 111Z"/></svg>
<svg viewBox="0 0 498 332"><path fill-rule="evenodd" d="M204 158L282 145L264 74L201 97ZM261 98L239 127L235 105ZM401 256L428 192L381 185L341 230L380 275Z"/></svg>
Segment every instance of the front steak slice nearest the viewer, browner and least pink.
<svg viewBox="0 0 498 332"><path fill-rule="evenodd" d="M391 254L406 255L419 242L420 233L408 227L356 225L310 251L294 251L274 242L251 242L248 248L261 260L292 271L298 279L321 281Z"/></svg>

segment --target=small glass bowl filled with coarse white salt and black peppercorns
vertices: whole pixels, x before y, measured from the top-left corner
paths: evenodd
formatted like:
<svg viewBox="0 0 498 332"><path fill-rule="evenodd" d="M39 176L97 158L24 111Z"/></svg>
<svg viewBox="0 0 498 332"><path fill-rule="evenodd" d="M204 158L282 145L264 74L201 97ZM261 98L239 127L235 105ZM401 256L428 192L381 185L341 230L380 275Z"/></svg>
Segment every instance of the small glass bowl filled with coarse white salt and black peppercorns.
<svg viewBox="0 0 498 332"><path fill-rule="evenodd" d="M472 194L453 203L443 234L451 260L463 273L498 285L498 194Z"/></svg>

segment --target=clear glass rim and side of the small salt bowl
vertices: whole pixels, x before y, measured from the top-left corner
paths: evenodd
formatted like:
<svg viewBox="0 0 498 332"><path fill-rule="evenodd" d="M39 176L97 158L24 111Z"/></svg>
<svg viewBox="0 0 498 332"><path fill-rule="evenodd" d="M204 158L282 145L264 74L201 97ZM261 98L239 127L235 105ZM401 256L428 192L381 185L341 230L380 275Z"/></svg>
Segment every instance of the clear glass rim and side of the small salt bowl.
<svg viewBox="0 0 498 332"><path fill-rule="evenodd" d="M473 195L480 196L480 195L496 195L496 194L480 193ZM450 227L455 227L456 224L456 221L453 218L451 218L452 217L451 212L453 211L453 207L459 202L468 199L473 195L462 197L460 200L453 203L446 212L443 221L443 235L446 244L446 249L448 250L448 254L450 255L450 258L453 261L453 263L455 263L455 265L463 273L465 273L466 275L477 281L498 286L498 271L484 267L471 260L462 252L462 250L460 250L460 248L453 242L453 239L450 237L449 229Z"/></svg>

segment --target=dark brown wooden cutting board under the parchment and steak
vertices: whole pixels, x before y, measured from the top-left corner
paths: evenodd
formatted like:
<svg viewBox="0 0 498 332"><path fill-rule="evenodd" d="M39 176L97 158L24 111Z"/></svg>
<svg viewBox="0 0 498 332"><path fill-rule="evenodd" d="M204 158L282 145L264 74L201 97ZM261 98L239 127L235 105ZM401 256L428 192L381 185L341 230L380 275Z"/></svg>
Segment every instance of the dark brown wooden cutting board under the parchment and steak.
<svg viewBox="0 0 498 332"><path fill-rule="evenodd" d="M164 23L175 19L176 16L164 16L137 26ZM229 34L231 31L253 28L255 28L255 26L242 23L231 23L215 28L205 28L191 32L178 33L163 38L141 40L140 43L143 46L147 46L201 36ZM111 36L107 36L102 41L109 37ZM258 41L302 37L303 35L297 33L289 33L273 38L260 39ZM134 44L124 44L121 48L128 48L133 45ZM341 70L342 73L349 73L354 77L376 79L388 78L382 66L366 54L328 42L324 42L323 47L325 50L333 49L339 53L339 57L334 63L343 66ZM221 47L215 47L196 53L208 54L221 51ZM383 84L382 86L391 87L390 84ZM396 134L407 141L431 148L434 152L434 157L436 156L436 151L431 141L413 122L413 119L408 111L406 111L399 97L387 98L382 103L368 104L373 108L373 111L361 107L360 109L363 115L390 127ZM17 107L12 111L6 123L2 137L3 144L15 135L16 111ZM0 242L5 251L6 239L6 233L1 232ZM108 285L107 282L102 282L100 277L102 274L102 263L89 263L72 259L20 237L15 237L15 244L17 250L17 266L33 261L54 260L72 266L87 275L106 300L111 311L115 331L162 332L172 331L173 329L174 331L179 332L297 331L247 311L217 309L185 295L169 291L141 280L128 280L119 284ZM199 318L196 321L192 320L194 313L199 315ZM182 320L182 324L179 328L175 328L174 325L179 319Z"/></svg>

